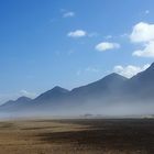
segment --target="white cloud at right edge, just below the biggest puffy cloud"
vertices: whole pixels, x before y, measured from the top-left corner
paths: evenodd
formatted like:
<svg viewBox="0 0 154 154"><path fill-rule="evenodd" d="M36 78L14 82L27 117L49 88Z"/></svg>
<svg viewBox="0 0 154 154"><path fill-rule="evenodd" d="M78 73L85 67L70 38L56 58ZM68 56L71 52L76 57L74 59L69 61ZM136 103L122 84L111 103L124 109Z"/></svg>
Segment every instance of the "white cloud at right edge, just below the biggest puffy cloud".
<svg viewBox="0 0 154 154"><path fill-rule="evenodd" d="M154 57L154 41L145 44L143 50L134 51L132 55L139 57Z"/></svg>

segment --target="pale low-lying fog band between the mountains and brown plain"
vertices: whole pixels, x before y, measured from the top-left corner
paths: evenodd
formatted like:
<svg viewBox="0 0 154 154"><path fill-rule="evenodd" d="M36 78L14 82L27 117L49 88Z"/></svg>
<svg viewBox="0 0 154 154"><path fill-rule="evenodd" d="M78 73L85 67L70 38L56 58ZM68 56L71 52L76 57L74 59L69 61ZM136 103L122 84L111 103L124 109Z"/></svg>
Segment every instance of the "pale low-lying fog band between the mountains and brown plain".
<svg viewBox="0 0 154 154"><path fill-rule="evenodd" d="M154 105L150 102L119 102L119 103L88 103L80 106L65 106L53 109L31 109L25 111L9 111L0 112L0 119L13 118L53 118L53 117L100 117L100 118L117 118L117 117L144 117L154 114Z"/></svg>

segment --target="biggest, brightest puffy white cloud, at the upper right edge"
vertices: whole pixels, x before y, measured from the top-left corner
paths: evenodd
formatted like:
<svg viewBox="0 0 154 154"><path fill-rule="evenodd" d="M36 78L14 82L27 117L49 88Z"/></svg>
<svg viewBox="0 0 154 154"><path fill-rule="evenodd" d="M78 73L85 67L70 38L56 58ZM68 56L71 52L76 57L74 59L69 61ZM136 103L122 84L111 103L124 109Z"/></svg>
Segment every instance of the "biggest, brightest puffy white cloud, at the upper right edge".
<svg viewBox="0 0 154 154"><path fill-rule="evenodd" d="M133 26L130 38L134 43L150 42L154 40L154 24L140 22Z"/></svg>

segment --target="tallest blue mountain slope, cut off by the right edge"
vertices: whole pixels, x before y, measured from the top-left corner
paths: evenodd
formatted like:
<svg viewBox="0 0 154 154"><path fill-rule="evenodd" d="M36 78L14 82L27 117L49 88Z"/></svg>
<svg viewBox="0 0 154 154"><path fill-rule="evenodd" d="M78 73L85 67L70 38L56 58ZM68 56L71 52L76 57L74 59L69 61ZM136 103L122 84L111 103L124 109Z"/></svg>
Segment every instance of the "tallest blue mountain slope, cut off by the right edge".
<svg viewBox="0 0 154 154"><path fill-rule="evenodd" d="M154 63L146 70L129 79L123 86L123 91L136 100L152 100L154 98Z"/></svg>

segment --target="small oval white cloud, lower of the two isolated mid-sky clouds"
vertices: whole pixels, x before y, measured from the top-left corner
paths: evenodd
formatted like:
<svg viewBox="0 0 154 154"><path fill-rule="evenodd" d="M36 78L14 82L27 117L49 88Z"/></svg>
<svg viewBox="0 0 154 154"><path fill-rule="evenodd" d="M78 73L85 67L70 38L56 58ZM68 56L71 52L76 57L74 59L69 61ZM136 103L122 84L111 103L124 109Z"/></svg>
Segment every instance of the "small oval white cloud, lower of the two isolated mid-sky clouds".
<svg viewBox="0 0 154 154"><path fill-rule="evenodd" d="M101 42L96 46L96 50L99 52L120 48L120 44L118 43L110 43L110 42Z"/></svg>

